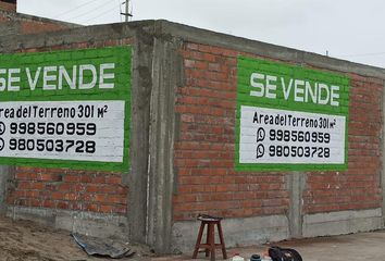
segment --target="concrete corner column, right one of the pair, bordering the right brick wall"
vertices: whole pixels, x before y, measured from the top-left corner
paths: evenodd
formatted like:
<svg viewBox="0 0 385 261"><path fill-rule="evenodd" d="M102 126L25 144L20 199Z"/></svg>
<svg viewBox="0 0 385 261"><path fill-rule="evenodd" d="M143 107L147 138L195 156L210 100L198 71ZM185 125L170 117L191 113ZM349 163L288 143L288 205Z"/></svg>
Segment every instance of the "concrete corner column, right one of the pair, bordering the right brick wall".
<svg viewBox="0 0 385 261"><path fill-rule="evenodd" d="M177 44L161 34L158 24L153 48L149 226L148 244L159 253L171 252L172 196L174 188L175 91L181 78L182 59Z"/></svg>

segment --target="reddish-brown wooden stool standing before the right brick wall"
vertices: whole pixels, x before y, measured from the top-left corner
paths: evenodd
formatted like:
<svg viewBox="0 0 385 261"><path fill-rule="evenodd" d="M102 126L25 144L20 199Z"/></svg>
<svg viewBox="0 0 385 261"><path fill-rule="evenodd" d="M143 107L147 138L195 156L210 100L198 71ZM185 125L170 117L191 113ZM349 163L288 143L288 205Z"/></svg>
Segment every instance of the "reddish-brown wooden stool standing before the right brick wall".
<svg viewBox="0 0 385 261"><path fill-rule="evenodd" d="M209 257L209 253L211 252L211 258L210 258L211 261L215 260L215 249L216 248L221 248L223 259L227 259L226 247L224 244L222 226L221 226L222 217L215 217L215 216L211 216L211 215L199 215L198 220L201 221L201 223L200 223L197 243L195 245L195 250L192 253L192 259L197 258L197 254L198 254L198 251L200 248L204 249L206 257ZM206 244L201 244L206 225L208 225L207 241L206 241ZM221 244L215 244L215 233L214 233L215 225L218 227L218 233L220 236Z"/></svg>

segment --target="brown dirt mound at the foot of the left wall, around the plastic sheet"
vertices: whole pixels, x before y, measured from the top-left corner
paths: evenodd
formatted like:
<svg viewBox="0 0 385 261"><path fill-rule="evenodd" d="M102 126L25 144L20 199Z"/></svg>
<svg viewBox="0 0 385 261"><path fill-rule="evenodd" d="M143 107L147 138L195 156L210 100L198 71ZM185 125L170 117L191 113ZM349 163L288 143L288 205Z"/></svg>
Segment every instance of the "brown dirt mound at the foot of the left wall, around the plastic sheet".
<svg viewBox="0 0 385 261"><path fill-rule="evenodd" d="M120 260L149 260L147 249L133 246L133 258ZM70 232L53 229L29 221L0 217L0 261L103 261L89 257L80 249Z"/></svg>

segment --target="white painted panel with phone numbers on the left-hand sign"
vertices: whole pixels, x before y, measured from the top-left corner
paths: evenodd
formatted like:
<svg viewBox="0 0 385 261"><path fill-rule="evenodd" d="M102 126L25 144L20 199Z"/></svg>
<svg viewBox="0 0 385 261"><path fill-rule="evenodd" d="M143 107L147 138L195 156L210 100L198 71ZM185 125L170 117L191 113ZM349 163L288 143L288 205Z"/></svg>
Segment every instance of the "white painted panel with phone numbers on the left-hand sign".
<svg viewBox="0 0 385 261"><path fill-rule="evenodd" d="M0 102L0 157L123 162L123 100Z"/></svg>

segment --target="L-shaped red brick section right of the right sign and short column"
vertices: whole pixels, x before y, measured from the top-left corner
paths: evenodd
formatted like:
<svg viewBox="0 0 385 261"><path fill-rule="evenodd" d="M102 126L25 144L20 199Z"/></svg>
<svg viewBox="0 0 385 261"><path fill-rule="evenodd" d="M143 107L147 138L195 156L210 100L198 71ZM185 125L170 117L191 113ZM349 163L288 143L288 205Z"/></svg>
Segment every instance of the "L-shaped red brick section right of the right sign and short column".
<svg viewBox="0 0 385 261"><path fill-rule="evenodd" d="M305 212L381 208L382 79L350 75L348 170L309 173Z"/></svg>

